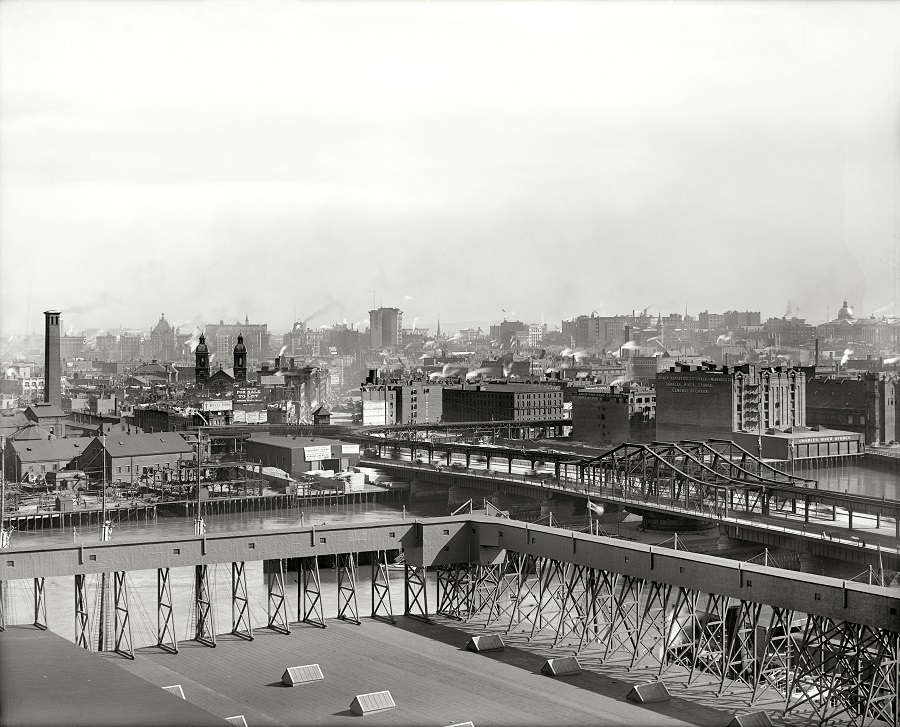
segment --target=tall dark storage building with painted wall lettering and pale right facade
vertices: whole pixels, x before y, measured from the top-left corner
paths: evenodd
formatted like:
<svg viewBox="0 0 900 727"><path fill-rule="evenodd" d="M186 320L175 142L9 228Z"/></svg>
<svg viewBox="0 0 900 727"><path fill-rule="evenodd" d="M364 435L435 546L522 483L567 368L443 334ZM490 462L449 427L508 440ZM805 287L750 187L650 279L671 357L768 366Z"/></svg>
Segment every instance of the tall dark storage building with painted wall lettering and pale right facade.
<svg viewBox="0 0 900 727"><path fill-rule="evenodd" d="M656 375L656 434L661 441L730 439L806 425L801 369L757 364L675 364Z"/></svg>

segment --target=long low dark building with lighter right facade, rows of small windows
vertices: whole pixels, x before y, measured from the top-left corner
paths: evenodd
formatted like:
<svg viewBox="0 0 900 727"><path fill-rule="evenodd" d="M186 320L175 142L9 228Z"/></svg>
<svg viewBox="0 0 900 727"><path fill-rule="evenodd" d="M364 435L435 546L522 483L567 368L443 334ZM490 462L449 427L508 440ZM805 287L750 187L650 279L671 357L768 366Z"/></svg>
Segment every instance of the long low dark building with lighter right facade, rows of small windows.
<svg viewBox="0 0 900 727"><path fill-rule="evenodd" d="M443 388L444 422L562 419L563 392L555 386L494 383Z"/></svg>

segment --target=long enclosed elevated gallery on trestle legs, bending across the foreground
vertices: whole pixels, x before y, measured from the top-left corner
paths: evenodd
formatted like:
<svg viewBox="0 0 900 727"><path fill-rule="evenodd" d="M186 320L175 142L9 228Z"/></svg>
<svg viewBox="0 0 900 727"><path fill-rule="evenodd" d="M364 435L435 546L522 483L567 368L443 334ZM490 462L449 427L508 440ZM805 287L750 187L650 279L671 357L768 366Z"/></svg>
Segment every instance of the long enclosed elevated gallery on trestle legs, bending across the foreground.
<svg viewBox="0 0 900 727"><path fill-rule="evenodd" d="M157 571L156 646L176 653L171 568L194 569L193 640L213 647L210 566L230 564L226 628L250 640L247 561L265 562L266 628L290 634L297 624L327 626L321 555L337 560L338 619L360 624L359 602L369 590L371 616L393 621L387 552L398 549L407 616L442 615L550 639L560 655L574 650L599 660L601 670L640 668L645 678L650 665L670 685L712 680L719 694L743 695L750 704L768 694L785 713L810 711L819 722L900 724L896 590L508 519L467 515L13 549L0 561L0 587L33 581L34 625L46 628L45 579L74 575L77 645L133 658L128 571ZM357 581L359 553L373 556L367 589ZM285 559L298 559L296 614L288 609ZM427 569L436 571L432 598ZM86 578L95 574L109 593L105 641L92 637L92 629L105 629L91 624L86 605Z"/></svg>

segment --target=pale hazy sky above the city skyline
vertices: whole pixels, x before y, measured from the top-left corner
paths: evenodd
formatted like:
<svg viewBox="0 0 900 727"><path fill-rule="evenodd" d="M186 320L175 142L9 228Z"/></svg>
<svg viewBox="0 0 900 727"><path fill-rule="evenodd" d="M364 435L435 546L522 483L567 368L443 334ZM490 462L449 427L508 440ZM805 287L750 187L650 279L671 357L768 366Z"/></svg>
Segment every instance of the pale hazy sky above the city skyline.
<svg viewBox="0 0 900 727"><path fill-rule="evenodd" d="M0 335L889 315L898 28L877 1L4 0Z"/></svg>

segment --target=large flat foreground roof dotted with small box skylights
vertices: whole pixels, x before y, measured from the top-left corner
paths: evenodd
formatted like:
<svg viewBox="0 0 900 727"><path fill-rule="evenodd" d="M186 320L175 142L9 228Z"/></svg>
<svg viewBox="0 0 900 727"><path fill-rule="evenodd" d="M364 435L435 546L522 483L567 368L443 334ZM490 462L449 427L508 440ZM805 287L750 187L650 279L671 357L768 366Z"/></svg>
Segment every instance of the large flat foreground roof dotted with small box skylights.
<svg viewBox="0 0 900 727"><path fill-rule="evenodd" d="M216 648L185 642L178 654L142 649L134 661L108 659L152 684L181 684L189 701L222 717L243 714L249 727L359 727L361 718L350 711L354 697L385 690L396 708L366 715L365 725L722 727L733 715L674 694L665 703L633 704L625 695L634 681L591 671L544 676L544 657L509 645L467 651L464 624L406 617L396 626L369 618L359 626L326 623L325 629L295 624L289 635L260 629L252 642L220 636ZM282 685L287 667L309 664L319 665L324 680Z"/></svg>

